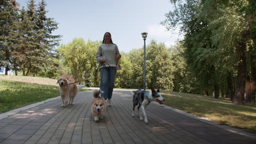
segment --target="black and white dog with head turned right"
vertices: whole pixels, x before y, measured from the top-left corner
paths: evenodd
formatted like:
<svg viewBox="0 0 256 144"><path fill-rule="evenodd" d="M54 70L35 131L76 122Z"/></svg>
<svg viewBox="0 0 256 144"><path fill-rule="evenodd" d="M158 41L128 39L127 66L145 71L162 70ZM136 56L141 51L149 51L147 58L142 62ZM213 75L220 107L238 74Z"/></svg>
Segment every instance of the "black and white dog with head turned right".
<svg viewBox="0 0 256 144"><path fill-rule="evenodd" d="M150 103L150 101L156 100L159 104L164 104L162 101L165 101L165 99L162 97L162 95L158 91L155 91L154 88L151 88L151 92L149 91L143 91L141 89L137 90L133 94L133 111L132 116L134 117L134 110L135 106L138 105L138 115L139 115L139 108L141 107L141 114L139 115L139 119L143 120L142 114L144 115L144 121L148 123L148 118L145 112L146 107Z"/></svg>

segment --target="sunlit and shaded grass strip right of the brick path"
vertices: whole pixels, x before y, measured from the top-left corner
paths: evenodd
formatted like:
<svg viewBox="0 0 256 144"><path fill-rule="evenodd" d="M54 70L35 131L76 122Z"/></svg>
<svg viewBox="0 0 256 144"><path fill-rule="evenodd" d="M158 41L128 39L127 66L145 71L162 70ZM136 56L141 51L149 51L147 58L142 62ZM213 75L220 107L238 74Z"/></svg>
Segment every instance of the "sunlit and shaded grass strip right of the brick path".
<svg viewBox="0 0 256 144"><path fill-rule="evenodd" d="M205 117L211 121L256 133L256 105L232 104L228 99L214 99L203 95L161 91L165 105Z"/></svg>

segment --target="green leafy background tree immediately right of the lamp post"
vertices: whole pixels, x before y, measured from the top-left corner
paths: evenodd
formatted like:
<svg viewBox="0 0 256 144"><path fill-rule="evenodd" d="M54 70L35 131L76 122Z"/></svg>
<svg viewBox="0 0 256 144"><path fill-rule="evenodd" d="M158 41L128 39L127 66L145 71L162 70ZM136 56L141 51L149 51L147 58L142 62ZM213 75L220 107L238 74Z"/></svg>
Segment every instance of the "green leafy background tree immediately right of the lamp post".
<svg viewBox="0 0 256 144"><path fill-rule="evenodd" d="M146 51L147 87L159 87L161 89L173 89L173 66L170 55L164 43L152 40Z"/></svg>

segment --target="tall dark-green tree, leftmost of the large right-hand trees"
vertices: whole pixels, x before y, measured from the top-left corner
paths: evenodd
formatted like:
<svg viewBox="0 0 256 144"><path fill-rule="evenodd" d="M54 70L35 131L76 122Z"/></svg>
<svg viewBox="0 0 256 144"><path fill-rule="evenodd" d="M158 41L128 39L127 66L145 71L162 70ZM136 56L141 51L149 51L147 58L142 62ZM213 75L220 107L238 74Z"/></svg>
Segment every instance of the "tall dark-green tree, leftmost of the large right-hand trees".
<svg viewBox="0 0 256 144"><path fill-rule="evenodd" d="M176 3L176 1L172 1ZM162 22L168 29L181 26L185 34L183 46L184 55L189 69L200 80L200 87L206 95L215 92L218 98L218 69L214 67L214 47L210 40L211 31L208 22L200 16L200 1L177 1L175 9L166 14ZM200 92L202 94L202 92Z"/></svg>

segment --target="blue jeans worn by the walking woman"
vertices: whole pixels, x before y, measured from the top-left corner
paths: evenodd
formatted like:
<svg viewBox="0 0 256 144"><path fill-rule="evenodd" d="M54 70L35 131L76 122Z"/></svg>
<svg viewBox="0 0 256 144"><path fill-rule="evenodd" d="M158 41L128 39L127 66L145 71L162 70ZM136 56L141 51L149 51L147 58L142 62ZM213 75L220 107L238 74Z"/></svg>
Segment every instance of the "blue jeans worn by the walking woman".
<svg viewBox="0 0 256 144"><path fill-rule="evenodd" d="M115 67L100 68L100 73L101 91L104 92L101 94L101 97L111 99L114 89L115 73L117 73L117 69Z"/></svg>

